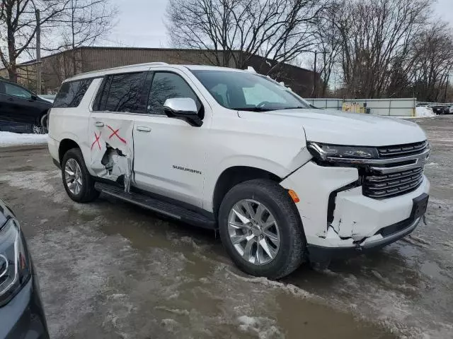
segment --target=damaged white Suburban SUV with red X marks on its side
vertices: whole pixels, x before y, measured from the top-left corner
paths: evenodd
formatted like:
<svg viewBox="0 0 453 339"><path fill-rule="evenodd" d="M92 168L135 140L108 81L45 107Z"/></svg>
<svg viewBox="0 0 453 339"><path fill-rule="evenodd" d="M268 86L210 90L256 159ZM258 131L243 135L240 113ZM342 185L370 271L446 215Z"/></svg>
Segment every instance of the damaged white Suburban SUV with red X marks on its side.
<svg viewBox="0 0 453 339"><path fill-rule="evenodd" d="M428 204L416 124L315 109L237 69L75 76L50 113L49 150L74 201L102 191L219 230L239 268L268 278L395 242Z"/></svg>

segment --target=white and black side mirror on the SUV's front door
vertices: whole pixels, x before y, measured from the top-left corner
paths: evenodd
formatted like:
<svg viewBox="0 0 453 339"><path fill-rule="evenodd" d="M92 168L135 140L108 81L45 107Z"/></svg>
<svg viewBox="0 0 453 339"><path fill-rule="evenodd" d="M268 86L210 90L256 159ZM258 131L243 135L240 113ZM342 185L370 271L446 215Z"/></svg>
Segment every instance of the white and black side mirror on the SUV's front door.
<svg viewBox="0 0 453 339"><path fill-rule="evenodd" d="M197 104L191 97L171 97L165 100L164 112L167 117L187 121L192 126L200 127L203 124L198 117Z"/></svg>

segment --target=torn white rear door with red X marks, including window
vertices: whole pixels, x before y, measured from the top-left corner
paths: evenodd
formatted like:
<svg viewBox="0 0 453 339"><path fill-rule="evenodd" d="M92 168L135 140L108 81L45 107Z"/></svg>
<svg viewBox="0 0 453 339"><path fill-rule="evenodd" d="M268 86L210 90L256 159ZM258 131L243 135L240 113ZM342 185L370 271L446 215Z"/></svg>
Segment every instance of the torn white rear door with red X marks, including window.
<svg viewBox="0 0 453 339"><path fill-rule="evenodd" d="M105 76L88 124L91 163L96 176L125 186L132 178L134 114L145 112L146 72Z"/></svg>

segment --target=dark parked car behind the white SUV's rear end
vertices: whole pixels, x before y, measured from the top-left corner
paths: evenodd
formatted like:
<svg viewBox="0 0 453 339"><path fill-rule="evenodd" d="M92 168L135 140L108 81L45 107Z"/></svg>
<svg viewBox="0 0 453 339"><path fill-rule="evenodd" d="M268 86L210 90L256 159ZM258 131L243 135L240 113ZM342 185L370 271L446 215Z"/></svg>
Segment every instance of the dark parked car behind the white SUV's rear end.
<svg viewBox="0 0 453 339"><path fill-rule="evenodd" d="M27 88L0 79L0 126L18 124L28 133L45 133L45 119L52 107L50 100L45 100Z"/></svg>

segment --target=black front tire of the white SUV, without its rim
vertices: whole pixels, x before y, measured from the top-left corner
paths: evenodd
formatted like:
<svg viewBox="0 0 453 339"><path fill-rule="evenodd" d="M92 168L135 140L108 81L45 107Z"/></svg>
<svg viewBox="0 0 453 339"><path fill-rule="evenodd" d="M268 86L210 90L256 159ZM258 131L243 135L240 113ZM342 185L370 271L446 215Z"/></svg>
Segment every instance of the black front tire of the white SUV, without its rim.
<svg viewBox="0 0 453 339"><path fill-rule="evenodd" d="M243 199L263 203L274 215L280 230L277 256L262 266L244 260L234 249L228 232L229 211ZM222 244L241 270L270 279L282 278L296 270L304 260L306 240L302 221L287 191L270 179L254 179L234 186L224 197L219 211L219 233Z"/></svg>

